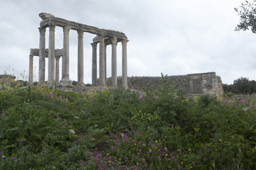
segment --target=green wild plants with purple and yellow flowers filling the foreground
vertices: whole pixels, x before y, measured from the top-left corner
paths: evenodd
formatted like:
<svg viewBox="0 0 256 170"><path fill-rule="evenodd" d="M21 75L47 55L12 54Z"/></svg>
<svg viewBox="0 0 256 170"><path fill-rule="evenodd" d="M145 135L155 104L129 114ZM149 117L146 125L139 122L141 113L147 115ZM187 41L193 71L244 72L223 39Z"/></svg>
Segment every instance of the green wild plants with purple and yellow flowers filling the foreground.
<svg viewBox="0 0 256 170"><path fill-rule="evenodd" d="M256 101L1 84L0 169L255 169Z"/></svg>

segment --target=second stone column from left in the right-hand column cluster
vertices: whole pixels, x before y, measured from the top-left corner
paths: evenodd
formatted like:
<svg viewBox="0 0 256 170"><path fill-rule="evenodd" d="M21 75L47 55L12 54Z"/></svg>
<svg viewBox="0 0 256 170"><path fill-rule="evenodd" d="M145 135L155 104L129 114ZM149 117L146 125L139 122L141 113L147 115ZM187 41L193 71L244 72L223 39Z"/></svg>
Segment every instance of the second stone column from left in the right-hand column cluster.
<svg viewBox="0 0 256 170"><path fill-rule="evenodd" d="M100 86L105 86L105 36L99 35L100 39Z"/></svg>

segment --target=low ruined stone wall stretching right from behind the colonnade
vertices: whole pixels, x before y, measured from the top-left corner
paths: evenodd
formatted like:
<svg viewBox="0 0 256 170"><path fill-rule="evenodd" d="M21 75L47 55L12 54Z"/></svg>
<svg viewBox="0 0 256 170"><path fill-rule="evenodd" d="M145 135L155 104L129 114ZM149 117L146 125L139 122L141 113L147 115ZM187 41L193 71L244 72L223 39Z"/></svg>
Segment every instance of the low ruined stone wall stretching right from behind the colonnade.
<svg viewBox="0 0 256 170"><path fill-rule="evenodd" d="M172 85L177 84L179 89L188 94L223 95L222 81L215 72L168 76L166 79L170 80ZM111 86L111 84L111 78L108 78L107 86ZM122 77L117 77L117 84L122 85ZM157 89L161 85L161 77L128 77L129 89L143 91L143 87L147 85Z"/></svg>

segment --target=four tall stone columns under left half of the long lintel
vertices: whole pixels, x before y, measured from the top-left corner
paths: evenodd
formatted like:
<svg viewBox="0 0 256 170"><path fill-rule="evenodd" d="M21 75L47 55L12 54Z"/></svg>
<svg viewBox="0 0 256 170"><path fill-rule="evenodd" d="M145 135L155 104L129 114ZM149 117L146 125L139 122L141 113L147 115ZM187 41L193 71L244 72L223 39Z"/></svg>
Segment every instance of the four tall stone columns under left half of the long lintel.
<svg viewBox="0 0 256 170"><path fill-rule="evenodd" d="M45 81L46 72L46 28L39 28L40 44L39 44L39 82ZM62 62L62 77L61 84L72 87L69 79L69 31L70 27L63 27L63 62ZM78 30L78 82L83 84L83 32ZM48 85L52 86L58 80L54 79L55 75L55 26L49 26L49 47L48 47Z"/></svg>

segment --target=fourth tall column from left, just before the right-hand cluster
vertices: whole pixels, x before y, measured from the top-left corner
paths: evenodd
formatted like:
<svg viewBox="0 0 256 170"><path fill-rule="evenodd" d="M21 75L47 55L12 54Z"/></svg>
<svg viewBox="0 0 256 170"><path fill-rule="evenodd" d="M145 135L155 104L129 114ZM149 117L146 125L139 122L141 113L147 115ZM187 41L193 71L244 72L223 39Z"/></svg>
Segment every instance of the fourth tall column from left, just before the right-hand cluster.
<svg viewBox="0 0 256 170"><path fill-rule="evenodd" d="M78 30L78 85L84 84L84 61L83 61L83 31Z"/></svg>

